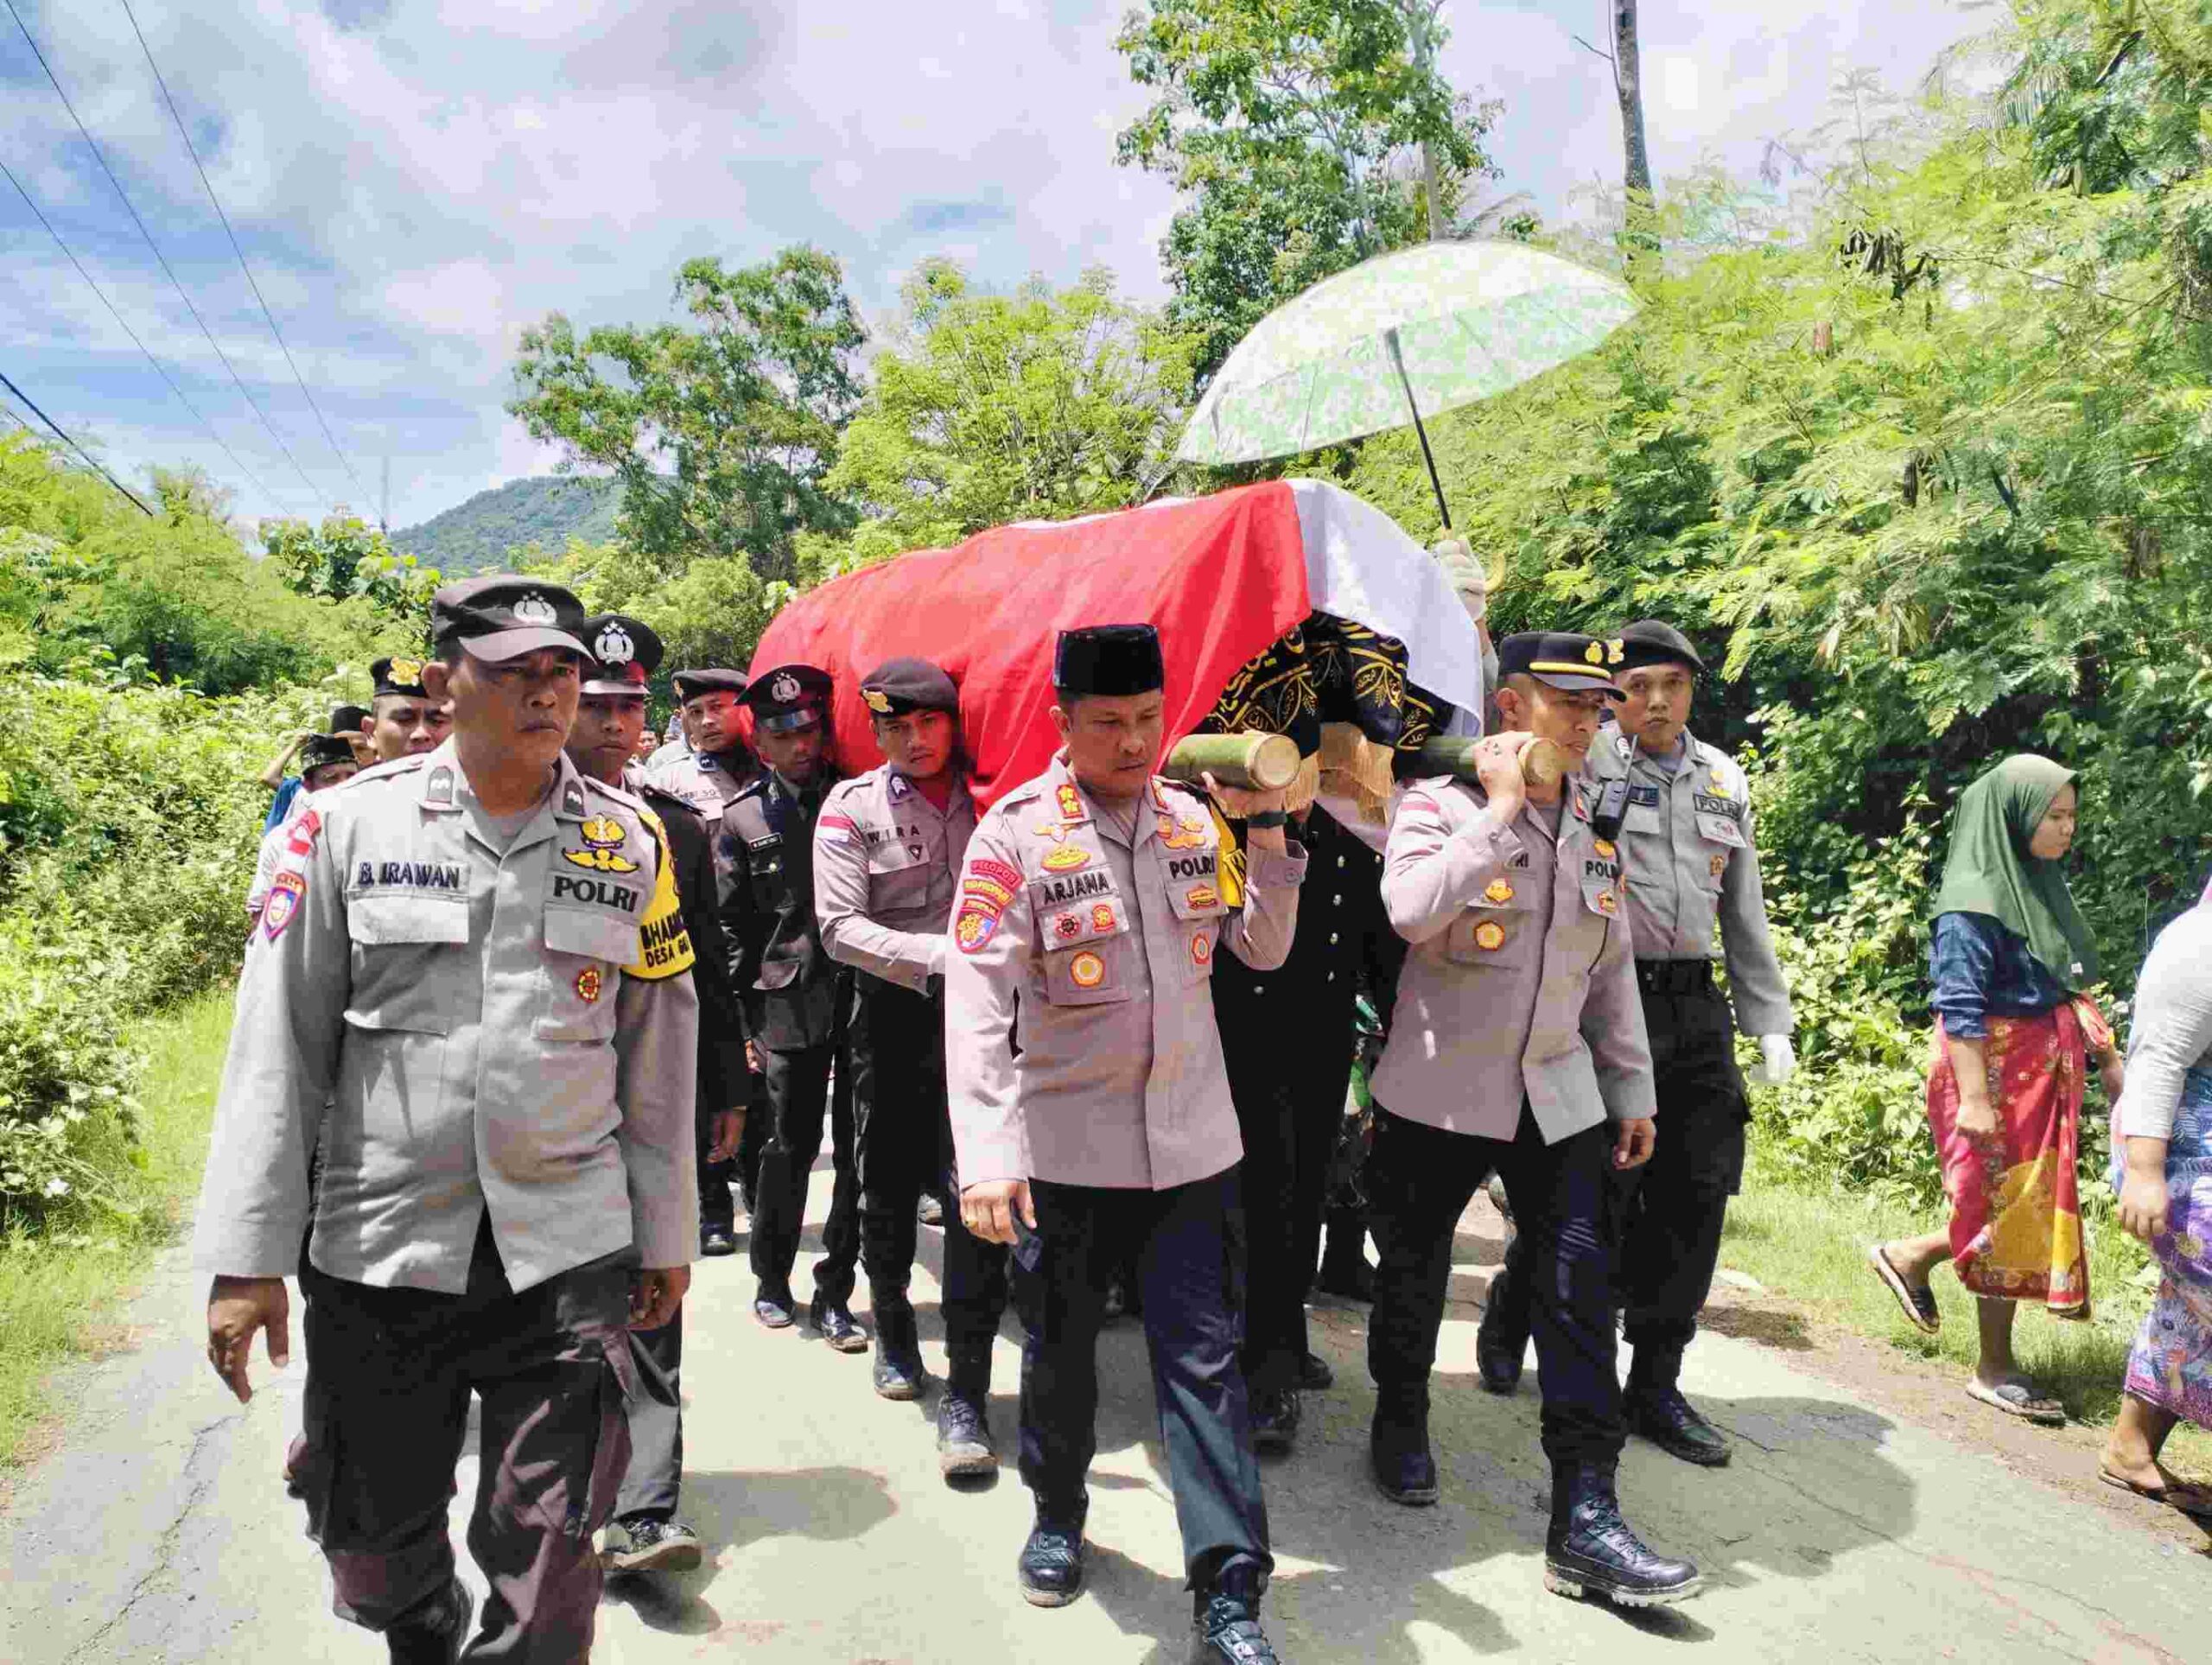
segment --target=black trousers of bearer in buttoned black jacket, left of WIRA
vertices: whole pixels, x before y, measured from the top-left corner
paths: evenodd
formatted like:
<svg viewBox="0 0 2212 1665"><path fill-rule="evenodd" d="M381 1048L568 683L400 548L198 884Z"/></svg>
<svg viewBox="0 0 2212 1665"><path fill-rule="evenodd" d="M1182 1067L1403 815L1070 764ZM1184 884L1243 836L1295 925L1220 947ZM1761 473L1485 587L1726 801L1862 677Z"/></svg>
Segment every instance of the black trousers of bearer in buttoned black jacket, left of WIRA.
<svg viewBox="0 0 2212 1665"><path fill-rule="evenodd" d="M852 1070L836 1072L832 1064L843 1046L825 1041L799 1050L759 1048L768 1086L768 1143L761 1145L761 1179L752 1207L752 1276L761 1289L790 1294L792 1267L799 1263L799 1234L807 1218L807 1181L814 1159L823 1152L823 1117L830 1119L830 1148L836 1181L830 1192L830 1221L823 1225L823 1258L814 1263L814 1294L823 1300L852 1300L854 1269L860 1263L860 1179L852 1159Z"/></svg>

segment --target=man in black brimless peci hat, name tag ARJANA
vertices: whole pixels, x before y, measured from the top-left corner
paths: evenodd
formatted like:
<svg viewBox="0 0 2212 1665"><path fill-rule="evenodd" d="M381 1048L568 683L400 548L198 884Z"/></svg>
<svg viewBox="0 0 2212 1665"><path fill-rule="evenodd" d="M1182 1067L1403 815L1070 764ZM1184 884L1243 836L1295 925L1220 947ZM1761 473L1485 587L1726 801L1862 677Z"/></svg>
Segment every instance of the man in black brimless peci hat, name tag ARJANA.
<svg viewBox="0 0 2212 1665"><path fill-rule="evenodd" d="M1018 1245L1022 1481L1037 1506L1022 1594L1057 1608L1082 1590L1104 1269L1135 1249L1190 1658L1265 1665L1274 1561L1223 1278L1241 1263L1241 1148L1210 971L1221 942L1252 966L1283 962L1305 856L1283 836L1281 792L1219 792L1250 845L1230 909L1206 803L1152 774L1161 685L1152 626L1064 630L1064 750L969 842L945 966L960 1218Z"/></svg>

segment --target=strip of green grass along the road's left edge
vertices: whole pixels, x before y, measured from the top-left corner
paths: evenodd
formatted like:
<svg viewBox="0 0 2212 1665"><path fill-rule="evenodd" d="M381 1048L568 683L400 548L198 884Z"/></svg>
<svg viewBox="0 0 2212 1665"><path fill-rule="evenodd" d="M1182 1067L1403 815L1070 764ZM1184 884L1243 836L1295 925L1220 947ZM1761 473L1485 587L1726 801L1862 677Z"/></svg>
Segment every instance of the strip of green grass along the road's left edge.
<svg viewBox="0 0 2212 1665"><path fill-rule="evenodd" d="M122 1302L188 1223L228 1035L228 986L144 1019L131 1035L148 1055L142 1145L135 1156L106 1152L104 1167L139 1212L135 1225L0 1240L0 1468L22 1459L27 1435L53 1409L49 1375L117 1344Z"/></svg>

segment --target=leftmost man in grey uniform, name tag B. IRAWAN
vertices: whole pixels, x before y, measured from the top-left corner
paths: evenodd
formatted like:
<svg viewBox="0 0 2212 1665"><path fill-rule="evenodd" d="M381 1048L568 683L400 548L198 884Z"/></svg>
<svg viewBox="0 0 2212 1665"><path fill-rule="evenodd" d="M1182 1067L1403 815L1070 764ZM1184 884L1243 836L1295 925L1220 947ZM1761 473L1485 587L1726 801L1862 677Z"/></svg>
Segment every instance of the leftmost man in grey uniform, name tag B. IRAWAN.
<svg viewBox="0 0 2212 1665"><path fill-rule="evenodd" d="M334 1608L451 1661L471 1601L447 1499L482 1406L478 1652L591 1652L628 1455L624 1327L690 1280L699 1004L635 798L562 756L584 610L491 575L431 599L453 734L294 827L239 980L195 1263L208 1360L290 1351L307 1227L301 1490Z"/></svg>

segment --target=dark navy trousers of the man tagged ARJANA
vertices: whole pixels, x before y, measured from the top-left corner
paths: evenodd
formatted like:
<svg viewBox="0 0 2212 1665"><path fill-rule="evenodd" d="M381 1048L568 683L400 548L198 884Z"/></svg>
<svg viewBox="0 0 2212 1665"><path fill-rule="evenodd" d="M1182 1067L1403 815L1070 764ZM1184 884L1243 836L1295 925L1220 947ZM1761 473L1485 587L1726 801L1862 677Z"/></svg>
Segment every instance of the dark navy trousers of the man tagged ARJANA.
<svg viewBox="0 0 2212 1665"><path fill-rule="evenodd" d="M1192 1590L1230 1568L1265 1579L1267 1504L1252 1457L1252 1415L1237 1369L1241 1207L1237 1170L1139 1192L1031 1181L1037 1227L1020 1227L1022 1481L1040 1512L1082 1519L1097 1453L1097 1336L1104 1271L1135 1252L1152 1355L1159 1439Z"/></svg>

